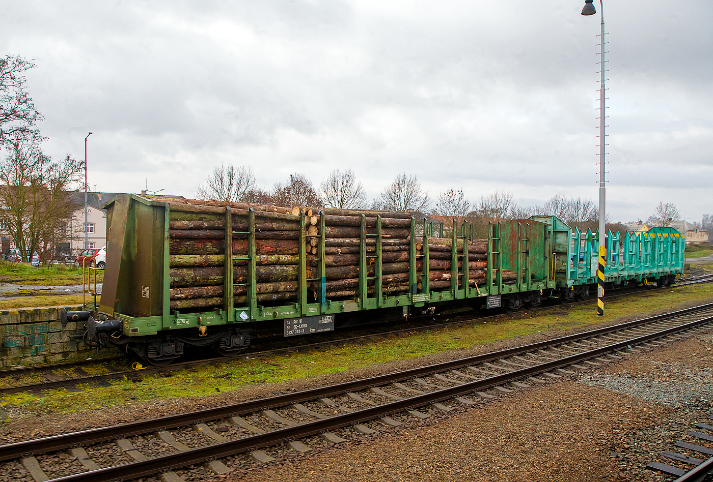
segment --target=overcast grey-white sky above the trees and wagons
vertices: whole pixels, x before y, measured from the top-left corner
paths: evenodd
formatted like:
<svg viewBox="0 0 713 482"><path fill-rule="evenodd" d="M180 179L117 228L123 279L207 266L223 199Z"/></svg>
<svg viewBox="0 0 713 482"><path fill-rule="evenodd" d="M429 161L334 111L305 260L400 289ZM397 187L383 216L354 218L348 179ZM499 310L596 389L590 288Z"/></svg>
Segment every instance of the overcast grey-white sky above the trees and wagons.
<svg viewBox="0 0 713 482"><path fill-rule="evenodd" d="M598 197L599 2L2 1L2 54L53 157L104 192L193 197L216 164L270 188L351 167L370 198ZM713 214L713 2L606 1L607 213Z"/></svg>

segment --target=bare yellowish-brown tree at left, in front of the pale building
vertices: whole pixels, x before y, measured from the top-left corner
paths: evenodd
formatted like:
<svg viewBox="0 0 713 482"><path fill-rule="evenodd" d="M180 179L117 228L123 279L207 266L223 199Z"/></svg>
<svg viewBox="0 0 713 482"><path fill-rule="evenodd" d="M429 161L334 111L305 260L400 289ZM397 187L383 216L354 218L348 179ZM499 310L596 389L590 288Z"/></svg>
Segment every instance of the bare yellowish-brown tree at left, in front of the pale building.
<svg viewBox="0 0 713 482"><path fill-rule="evenodd" d="M26 262L34 251L51 250L59 227L76 208L68 190L80 182L83 163L69 156L53 161L34 138L6 146L9 154L0 163L0 222Z"/></svg>

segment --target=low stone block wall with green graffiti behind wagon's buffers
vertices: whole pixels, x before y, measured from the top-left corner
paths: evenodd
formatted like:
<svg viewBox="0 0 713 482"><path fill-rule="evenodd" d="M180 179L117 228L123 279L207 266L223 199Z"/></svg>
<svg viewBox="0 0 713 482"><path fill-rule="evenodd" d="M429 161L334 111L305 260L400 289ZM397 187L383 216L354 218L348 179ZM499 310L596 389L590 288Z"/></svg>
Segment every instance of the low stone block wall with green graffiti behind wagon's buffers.
<svg viewBox="0 0 713 482"><path fill-rule="evenodd" d="M79 310L67 306L68 311ZM82 341L84 322L59 323L61 308L0 310L0 367L78 360L96 356ZM118 352L118 350L117 350ZM107 350L101 350L106 356Z"/></svg>

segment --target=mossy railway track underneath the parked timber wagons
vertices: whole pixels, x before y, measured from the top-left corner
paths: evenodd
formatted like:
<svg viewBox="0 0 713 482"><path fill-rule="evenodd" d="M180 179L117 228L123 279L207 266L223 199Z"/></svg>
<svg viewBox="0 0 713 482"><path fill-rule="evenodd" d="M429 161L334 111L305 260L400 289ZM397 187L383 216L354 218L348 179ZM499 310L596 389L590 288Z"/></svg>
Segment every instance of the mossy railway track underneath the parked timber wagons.
<svg viewBox="0 0 713 482"><path fill-rule="evenodd" d="M697 281L698 283L698 281ZM632 295L636 293L641 293L646 290L652 290L656 288L632 288L624 289L622 293L617 293L615 295L607 297L609 300L620 298L622 296ZM588 303L595 300L595 297L586 298L582 301L573 300L568 305L573 305L577 303ZM528 313L538 312L542 310L548 310L553 308L553 306L542 306L538 308L532 308L527 310ZM108 357L97 360L81 360L78 362L65 362L57 363L52 365L39 365L35 367L19 367L11 368L7 370L0 370L0 380L4 386L0 386L0 394L14 394L19 392L41 392L42 390L56 389L56 388L66 388L73 389L80 384L100 384L101 386L109 386L108 381L112 379L123 379L127 377L133 381L140 381L140 379L146 375L157 374L157 373L168 373L176 372L178 370L185 370L194 367L200 367L205 365L215 365L218 363L230 362L232 360L240 360L246 356L250 357L269 357L272 355L279 355L280 353L286 352L304 352L308 350L314 350L322 347L329 347L335 345L344 345L348 343L357 343L367 340L374 340L376 338L386 338L394 337L399 335L405 335L407 333L419 332L424 330L434 330L438 328L448 328L456 325L463 325L472 322L481 322L486 320L493 320L498 318L506 318L510 313L501 313L498 315L481 316L478 318L463 318L462 315L438 315L438 318L456 318L456 320L447 321L445 323L424 323L422 325L409 325L408 328L403 328L399 330L388 330L388 331L373 331L366 335L359 335L353 337L344 337L331 340L323 340L314 343L307 343L304 345L288 345L284 347L275 348L272 350L251 350L241 352L240 355L235 357L215 357L207 358L202 360L192 360L187 362L174 363L169 366L164 367L141 367L136 370L133 367L126 366L125 369L113 365L107 362L116 362L118 360L125 360L125 357ZM432 318L432 317L427 317ZM377 325L378 326L378 325ZM258 339L260 340L260 339ZM279 340L284 341L282 337ZM270 339L265 343L270 345ZM101 373L90 374L87 373L82 367L87 365L99 365L101 366ZM13 383L9 380L18 381L24 375L34 374L36 377L41 379L33 380L26 383Z"/></svg>

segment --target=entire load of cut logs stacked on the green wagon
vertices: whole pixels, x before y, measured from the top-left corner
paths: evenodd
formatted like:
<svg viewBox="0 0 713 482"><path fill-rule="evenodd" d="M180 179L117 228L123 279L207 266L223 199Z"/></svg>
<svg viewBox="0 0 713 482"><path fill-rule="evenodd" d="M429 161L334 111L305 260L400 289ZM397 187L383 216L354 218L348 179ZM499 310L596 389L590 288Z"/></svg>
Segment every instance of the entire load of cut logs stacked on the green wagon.
<svg viewBox="0 0 713 482"><path fill-rule="evenodd" d="M381 285L384 294L409 292L411 214L396 211L324 209L324 233L320 233L320 211L248 203L181 200L170 202L170 307L172 309L222 306L225 274L225 206L232 212L232 271L236 306L245 305L249 211L255 210L256 291L261 305L281 305L297 300L299 289L299 250L307 257L309 301L321 298L317 280L321 258L319 241L324 236L325 298L353 298L359 287L361 215L366 233L376 234L376 216L381 216ZM306 236L299 239L300 214L306 219ZM416 273L419 290L423 282L424 246L416 248ZM446 238L429 238L429 288L451 287L451 245ZM458 240L463 253L463 240ZM367 293L374 295L376 236L366 237ZM463 257L458 258L463 273ZM468 243L469 285L486 283L487 241ZM368 279L372 278L372 279ZM515 279L515 273L503 273ZM461 280L458 287L462 288Z"/></svg>

